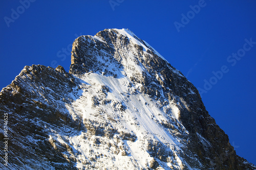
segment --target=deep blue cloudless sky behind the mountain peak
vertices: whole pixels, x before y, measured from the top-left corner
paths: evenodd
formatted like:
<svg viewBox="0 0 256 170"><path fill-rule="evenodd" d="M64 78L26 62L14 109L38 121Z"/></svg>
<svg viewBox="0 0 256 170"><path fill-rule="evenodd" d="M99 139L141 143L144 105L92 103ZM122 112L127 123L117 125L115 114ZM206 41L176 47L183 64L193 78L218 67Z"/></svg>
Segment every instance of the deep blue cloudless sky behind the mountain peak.
<svg viewBox="0 0 256 170"><path fill-rule="evenodd" d="M237 154L256 164L256 1L30 1L0 2L1 89L25 65L68 71L80 34L128 28L202 89Z"/></svg>

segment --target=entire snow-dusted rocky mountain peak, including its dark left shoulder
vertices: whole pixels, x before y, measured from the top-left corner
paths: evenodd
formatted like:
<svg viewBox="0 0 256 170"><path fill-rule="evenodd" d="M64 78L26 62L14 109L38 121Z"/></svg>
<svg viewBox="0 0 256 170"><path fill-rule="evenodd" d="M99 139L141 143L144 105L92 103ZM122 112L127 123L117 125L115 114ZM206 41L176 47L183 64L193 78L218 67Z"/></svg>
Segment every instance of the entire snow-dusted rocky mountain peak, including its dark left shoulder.
<svg viewBox="0 0 256 170"><path fill-rule="evenodd" d="M195 86L126 29L78 37L69 73L25 66L0 93L4 115L9 169L256 169Z"/></svg>

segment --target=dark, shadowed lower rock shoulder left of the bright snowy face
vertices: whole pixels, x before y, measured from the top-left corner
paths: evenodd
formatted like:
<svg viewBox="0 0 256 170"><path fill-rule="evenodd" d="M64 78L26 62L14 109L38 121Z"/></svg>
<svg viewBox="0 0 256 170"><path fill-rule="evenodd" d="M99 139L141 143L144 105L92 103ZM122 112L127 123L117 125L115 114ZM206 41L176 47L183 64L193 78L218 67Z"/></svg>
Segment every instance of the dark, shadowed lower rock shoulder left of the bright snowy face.
<svg viewBox="0 0 256 170"><path fill-rule="evenodd" d="M7 113L9 117L10 169L26 166L32 169L50 169L51 166L65 169L74 166L60 152L67 151L69 147L54 144L54 140L49 138L49 130L66 126L74 131L79 129L79 121L73 120L68 112L63 112L61 105L73 101L69 93L77 91L73 89L78 84L77 79L63 67L54 70L33 65L24 67L15 80L3 88L0 93L0 116L4 117ZM1 135L1 140L3 138Z"/></svg>

